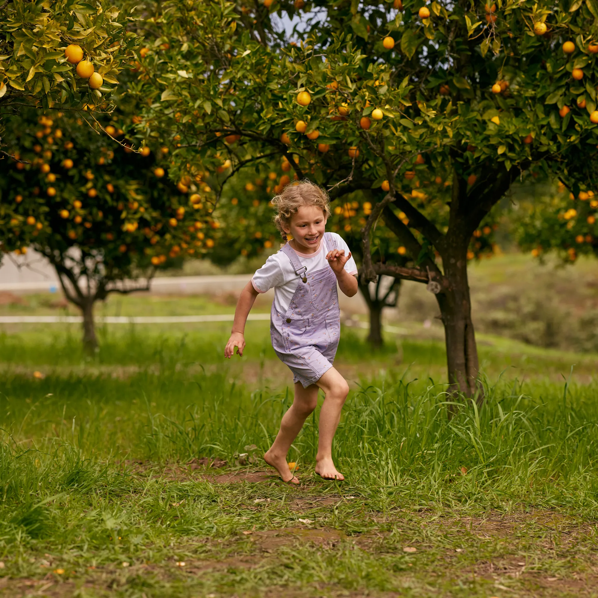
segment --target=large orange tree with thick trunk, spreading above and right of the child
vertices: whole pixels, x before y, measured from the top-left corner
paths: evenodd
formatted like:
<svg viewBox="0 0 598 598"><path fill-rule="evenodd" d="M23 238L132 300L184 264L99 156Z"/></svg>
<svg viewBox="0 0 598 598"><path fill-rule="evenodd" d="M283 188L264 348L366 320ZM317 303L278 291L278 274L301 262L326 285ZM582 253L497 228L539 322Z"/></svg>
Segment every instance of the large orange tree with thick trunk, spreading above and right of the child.
<svg viewBox="0 0 598 598"><path fill-rule="evenodd" d="M594 0L172 1L143 10L147 45L130 89L146 102L138 135L163 136L181 173L216 154L231 172L277 154L332 199L375 190L360 233L362 276L426 283L451 389L480 392L468 253L516 179L537 167L577 179L578 148L587 163L595 157ZM271 19L298 12L290 37ZM373 258L380 218L408 266Z"/></svg>

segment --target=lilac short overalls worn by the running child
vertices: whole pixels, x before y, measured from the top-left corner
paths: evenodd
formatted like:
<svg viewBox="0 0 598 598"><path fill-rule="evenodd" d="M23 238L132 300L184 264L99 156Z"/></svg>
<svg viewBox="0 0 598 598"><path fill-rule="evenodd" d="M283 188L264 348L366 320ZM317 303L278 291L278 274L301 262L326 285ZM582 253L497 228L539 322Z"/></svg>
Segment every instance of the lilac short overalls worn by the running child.
<svg viewBox="0 0 598 598"><path fill-rule="evenodd" d="M324 249L337 249L330 233L324 233ZM295 274L297 290L286 313L272 303L270 336L274 352L291 368L293 382L303 388L319 380L332 367L340 338L337 279L327 264L321 270L308 272L294 249L286 243L280 251L288 255Z"/></svg>

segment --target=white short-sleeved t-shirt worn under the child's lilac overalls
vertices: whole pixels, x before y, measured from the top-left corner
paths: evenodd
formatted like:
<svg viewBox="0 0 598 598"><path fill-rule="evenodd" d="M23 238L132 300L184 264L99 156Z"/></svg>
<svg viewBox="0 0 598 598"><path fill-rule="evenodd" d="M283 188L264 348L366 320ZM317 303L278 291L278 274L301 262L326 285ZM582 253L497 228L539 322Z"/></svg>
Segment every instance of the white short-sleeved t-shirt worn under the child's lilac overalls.
<svg viewBox="0 0 598 598"><path fill-rule="evenodd" d="M337 233L334 234L338 249L344 249L344 255L349 255L349 247L344 242L343 237ZM332 249L332 248L330 248ZM295 253L301 262L301 266L307 267L307 272L315 272L322 270L325 267L330 267L326 259L326 254L330 249L325 245L324 237L320 243L318 251L313 254ZM349 258L344 265L344 269L349 274L357 274L357 266L353 256ZM281 313L285 313L289 309L291 299L297 290L299 277L295 274L292 267L291 260L284 252L279 251L266 260L266 263L256 271L254 277L251 279L254 289L258 293L265 293L271 288L274 288L274 307Z"/></svg>

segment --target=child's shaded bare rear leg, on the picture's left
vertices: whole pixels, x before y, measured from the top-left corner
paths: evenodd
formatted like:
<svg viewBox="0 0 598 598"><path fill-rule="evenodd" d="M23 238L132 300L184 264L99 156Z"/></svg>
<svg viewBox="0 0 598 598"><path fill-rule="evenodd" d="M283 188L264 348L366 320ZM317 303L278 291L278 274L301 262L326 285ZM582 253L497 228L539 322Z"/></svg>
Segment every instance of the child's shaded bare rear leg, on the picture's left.
<svg viewBox="0 0 598 598"><path fill-rule="evenodd" d="M274 440L270 450L264 454L266 463L276 468L276 471L279 472L280 477L285 482L299 483L299 480L289 471L286 454L289 452L295 438L297 438L300 429L303 428L305 420L318 405L318 390L319 388L315 384L303 388L300 382L295 383L293 404L282 417L276 440Z"/></svg>

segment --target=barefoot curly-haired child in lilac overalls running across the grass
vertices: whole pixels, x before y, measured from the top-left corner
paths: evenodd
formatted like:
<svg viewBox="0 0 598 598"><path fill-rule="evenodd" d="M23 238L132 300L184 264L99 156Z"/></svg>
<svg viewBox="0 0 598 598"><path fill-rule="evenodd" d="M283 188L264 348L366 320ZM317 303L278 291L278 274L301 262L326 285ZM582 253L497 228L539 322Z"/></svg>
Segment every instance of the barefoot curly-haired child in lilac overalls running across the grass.
<svg viewBox="0 0 598 598"><path fill-rule="evenodd" d="M332 438L340 420L349 385L332 367L340 336L337 283L348 297L357 292L357 268L347 244L338 234L325 233L330 215L328 196L310 182L287 185L272 200L274 223L285 245L271 255L243 289L224 355L245 349L245 322L258 293L274 288L270 335L276 355L293 373L295 398L280 423L266 463L283 481L298 484L289 471L286 454L318 404L318 389L325 394L320 411L316 474L326 480L344 480L332 461ZM292 240L288 241L288 237Z"/></svg>

